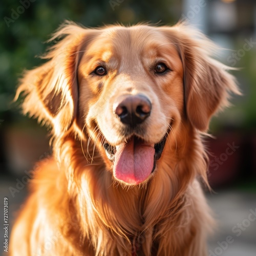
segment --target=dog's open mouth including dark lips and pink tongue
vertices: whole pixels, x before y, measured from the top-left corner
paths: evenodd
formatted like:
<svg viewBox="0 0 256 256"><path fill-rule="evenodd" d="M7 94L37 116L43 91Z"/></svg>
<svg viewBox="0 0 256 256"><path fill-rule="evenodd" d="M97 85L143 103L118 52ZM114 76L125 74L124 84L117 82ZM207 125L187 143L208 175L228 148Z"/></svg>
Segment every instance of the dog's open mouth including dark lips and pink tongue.
<svg viewBox="0 0 256 256"><path fill-rule="evenodd" d="M137 136L127 142L112 146L103 144L106 156L113 162L113 173L117 180L126 184L139 184L154 172L156 161L161 157L169 130L158 143L148 143Z"/></svg>

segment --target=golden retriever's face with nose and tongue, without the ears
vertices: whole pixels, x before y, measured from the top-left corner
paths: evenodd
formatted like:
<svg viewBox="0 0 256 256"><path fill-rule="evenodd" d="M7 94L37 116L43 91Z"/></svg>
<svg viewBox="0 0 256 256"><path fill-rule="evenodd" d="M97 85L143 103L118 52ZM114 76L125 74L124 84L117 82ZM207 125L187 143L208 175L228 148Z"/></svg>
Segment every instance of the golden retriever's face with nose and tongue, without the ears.
<svg viewBox="0 0 256 256"><path fill-rule="evenodd" d="M128 184L147 180L183 115L175 46L150 27L107 29L83 54L78 81L79 110L113 162L114 177Z"/></svg>

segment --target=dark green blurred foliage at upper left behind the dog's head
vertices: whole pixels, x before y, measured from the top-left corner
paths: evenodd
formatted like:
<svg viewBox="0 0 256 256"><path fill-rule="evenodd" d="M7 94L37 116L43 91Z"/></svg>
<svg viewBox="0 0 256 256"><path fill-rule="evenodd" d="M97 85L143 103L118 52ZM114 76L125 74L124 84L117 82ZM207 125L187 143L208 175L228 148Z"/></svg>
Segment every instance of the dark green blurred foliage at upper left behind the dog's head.
<svg viewBox="0 0 256 256"><path fill-rule="evenodd" d="M40 65L50 38L65 19L88 27L135 24L141 21L173 23L170 1L2 0L0 14L0 119L12 111L18 77L23 70ZM175 16L175 13L174 13ZM176 20L178 17L176 18ZM13 114L13 112L9 113ZM9 115L8 114L8 115ZM3 119L3 118L2 118Z"/></svg>

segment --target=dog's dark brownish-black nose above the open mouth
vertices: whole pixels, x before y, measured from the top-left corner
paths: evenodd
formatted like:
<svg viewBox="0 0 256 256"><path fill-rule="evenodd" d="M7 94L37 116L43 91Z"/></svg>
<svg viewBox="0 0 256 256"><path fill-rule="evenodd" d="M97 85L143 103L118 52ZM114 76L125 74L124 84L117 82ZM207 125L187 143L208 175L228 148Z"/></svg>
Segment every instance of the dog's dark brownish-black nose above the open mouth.
<svg viewBox="0 0 256 256"><path fill-rule="evenodd" d="M113 105L120 121L130 126L142 123L151 113L151 102L143 95L121 96Z"/></svg>

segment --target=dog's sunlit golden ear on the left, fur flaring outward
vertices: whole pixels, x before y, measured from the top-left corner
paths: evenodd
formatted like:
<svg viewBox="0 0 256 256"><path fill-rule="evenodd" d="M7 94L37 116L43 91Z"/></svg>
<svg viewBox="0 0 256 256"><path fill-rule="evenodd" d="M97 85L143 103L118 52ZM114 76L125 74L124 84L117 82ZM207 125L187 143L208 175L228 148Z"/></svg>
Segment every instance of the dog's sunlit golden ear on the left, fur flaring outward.
<svg viewBox="0 0 256 256"><path fill-rule="evenodd" d="M60 39L43 58L48 61L27 71L21 79L16 98L26 95L24 113L50 124L55 135L72 124L78 102L77 67L90 29L75 24L62 25L51 40Z"/></svg>

